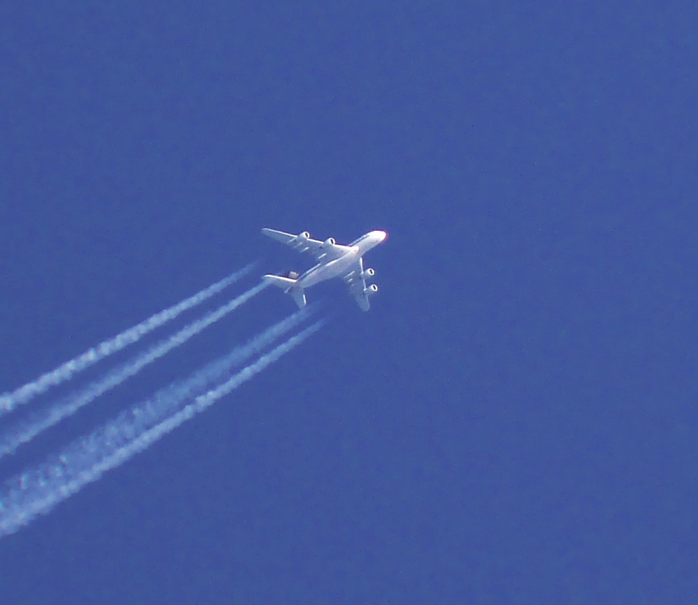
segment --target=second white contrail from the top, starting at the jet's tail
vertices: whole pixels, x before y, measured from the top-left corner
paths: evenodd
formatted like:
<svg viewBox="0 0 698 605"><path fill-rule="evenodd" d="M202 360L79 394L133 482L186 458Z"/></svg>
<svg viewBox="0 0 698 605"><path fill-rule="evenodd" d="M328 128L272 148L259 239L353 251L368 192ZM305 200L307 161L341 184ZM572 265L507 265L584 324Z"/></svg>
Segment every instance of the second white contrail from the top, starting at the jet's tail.
<svg viewBox="0 0 698 605"><path fill-rule="evenodd" d="M228 313L235 311L235 309L256 294L259 294L268 285L269 284L262 282L251 287L250 290L240 294L239 297L228 301L228 303L204 315L204 317L199 320L191 322L191 324L188 324L176 334L170 336L170 338L165 338L165 340L141 353L138 357L131 359L131 361L127 361L126 364L111 371L100 380L91 382L91 384L88 384L84 389L60 399L56 403L50 405L47 410L32 414L28 420L18 422L0 436L0 458L6 454L13 453L17 447L23 443L28 443L34 439L36 435L58 424L64 418L72 416L77 410L84 408L85 405L94 401L98 396L114 387L118 387L119 384L131 378L131 376L135 376L145 366L152 364L157 359L169 353L172 349L186 343L190 338L199 334L200 331L224 318Z"/></svg>

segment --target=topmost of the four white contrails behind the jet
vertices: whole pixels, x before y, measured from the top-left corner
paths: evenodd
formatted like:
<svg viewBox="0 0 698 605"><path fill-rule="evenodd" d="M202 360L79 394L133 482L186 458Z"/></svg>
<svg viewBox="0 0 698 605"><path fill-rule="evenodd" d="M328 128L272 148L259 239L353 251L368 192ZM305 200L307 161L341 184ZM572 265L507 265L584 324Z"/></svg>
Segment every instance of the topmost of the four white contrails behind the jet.
<svg viewBox="0 0 698 605"><path fill-rule="evenodd" d="M221 292L223 288L228 287L228 285L248 274L254 265L255 263L248 264L240 271L236 271L221 281L214 283L214 285L210 285L197 294L194 294L192 297L189 297L188 299L185 299L180 303L165 309L164 311L156 313L147 320L140 322L140 324L136 324L132 328L121 332L121 334L117 334L117 336L103 341L103 343L100 343L96 347L93 347L77 357L70 359L70 361L66 361L66 363L57 367L56 369L39 376L39 378L36 380L27 382L27 384L24 384L24 386L19 387L14 391L9 391L0 395L0 417L3 417L5 414L8 414L8 412L11 412L17 405L31 401L31 399L47 391L51 387L61 384L61 382L66 380L70 380L73 375L78 372L82 372L84 369L89 368L89 366L96 364L97 361L100 361L101 359L120 351L128 345L138 342L140 338L161 325L169 322L170 320L173 320L177 317L177 315L180 315L181 313L184 313L184 311L201 304L206 299L214 296L214 294L218 294L218 292Z"/></svg>

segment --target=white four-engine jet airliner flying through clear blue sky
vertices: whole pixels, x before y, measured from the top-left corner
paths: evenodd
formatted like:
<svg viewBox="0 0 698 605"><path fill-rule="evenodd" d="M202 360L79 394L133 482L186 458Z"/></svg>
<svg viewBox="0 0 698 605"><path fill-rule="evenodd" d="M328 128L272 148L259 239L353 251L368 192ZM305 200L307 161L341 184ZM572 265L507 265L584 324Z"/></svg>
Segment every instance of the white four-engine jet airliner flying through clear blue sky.
<svg viewBox="0 0 698 605"><path fill-rule="evenodd" d="M325 241L311 239L307 231L293 235L275 229L262 229L262 233L291 246L294 250L311 253L318 261L315 267L311 267L301 276L296 271L290 271L288 276L263 277L265 281L282 287L286 294L293 297L299 308L306 305L304 290L307 287L333 277L343 278L362 311L371 308L369 297L378 292L378 286L375 283L366 286L366 280L376 275L376 271L364 269L364 254L387 239L388 234L385 231L366 233L348 246L337 244L334 237L328 237Z"/></svg>

